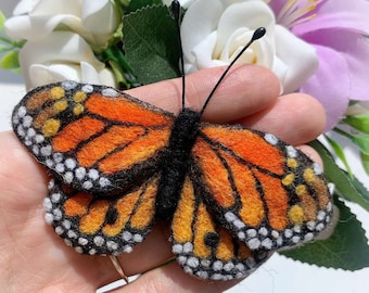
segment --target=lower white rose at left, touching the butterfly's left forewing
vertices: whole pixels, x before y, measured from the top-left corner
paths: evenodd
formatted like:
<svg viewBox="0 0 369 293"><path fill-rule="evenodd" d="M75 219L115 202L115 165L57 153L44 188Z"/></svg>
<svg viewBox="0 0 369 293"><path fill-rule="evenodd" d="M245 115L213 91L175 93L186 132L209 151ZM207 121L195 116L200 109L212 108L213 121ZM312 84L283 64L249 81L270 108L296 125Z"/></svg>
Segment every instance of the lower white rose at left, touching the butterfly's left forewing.
<svg viewBox="0 0 369 293"><path fill-rule="evenodd" d="M113 74L77 34L52 31L46 38L29 40L20 53L26 88L61 80L115 86Z"/></svg>

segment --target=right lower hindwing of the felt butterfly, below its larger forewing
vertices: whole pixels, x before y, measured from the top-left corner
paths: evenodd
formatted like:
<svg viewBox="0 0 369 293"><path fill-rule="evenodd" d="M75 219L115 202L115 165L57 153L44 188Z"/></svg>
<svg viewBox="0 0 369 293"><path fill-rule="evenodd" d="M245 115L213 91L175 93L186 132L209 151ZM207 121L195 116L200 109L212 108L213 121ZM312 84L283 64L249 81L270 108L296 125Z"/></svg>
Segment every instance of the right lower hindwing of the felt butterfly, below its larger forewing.
<svg viewBox="0 0 369 293"><path fill-rule="evenodd" d="M250 275L269 256L247 245L216 222L198 194L193 174L187 177L173 218L173 252L183 270L201 279L231 280Z"/></svg>

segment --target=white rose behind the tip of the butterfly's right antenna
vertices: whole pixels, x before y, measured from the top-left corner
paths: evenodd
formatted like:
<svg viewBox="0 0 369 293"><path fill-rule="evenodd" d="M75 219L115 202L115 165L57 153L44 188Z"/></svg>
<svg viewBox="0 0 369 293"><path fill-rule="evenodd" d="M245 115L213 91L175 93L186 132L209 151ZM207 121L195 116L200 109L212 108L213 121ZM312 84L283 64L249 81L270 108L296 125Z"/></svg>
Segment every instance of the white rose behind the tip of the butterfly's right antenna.
<svg viewBox="0 0 369 293"><path fill-rule="evenodd" d="M276 24L263 0L196 0L184 14L181 35L187 73L229 64L260 26L266 36L255 41L238 63L272 69L284 92L301 87L318 68L313 46Z"/></svg>

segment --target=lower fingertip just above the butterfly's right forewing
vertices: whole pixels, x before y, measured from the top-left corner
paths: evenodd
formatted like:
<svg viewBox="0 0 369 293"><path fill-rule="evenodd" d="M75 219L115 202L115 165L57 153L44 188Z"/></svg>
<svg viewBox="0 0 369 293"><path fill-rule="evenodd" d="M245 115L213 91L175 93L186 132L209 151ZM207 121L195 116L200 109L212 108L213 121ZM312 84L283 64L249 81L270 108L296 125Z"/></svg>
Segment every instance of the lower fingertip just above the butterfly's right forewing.
<svg viewBox="0 0 369 293"><path fill-rule="evenodd" d="M326 114L313 97L292 93L280 97L272 106L237 123L273 133L290 144L298 145L322 133Z"/></svg>

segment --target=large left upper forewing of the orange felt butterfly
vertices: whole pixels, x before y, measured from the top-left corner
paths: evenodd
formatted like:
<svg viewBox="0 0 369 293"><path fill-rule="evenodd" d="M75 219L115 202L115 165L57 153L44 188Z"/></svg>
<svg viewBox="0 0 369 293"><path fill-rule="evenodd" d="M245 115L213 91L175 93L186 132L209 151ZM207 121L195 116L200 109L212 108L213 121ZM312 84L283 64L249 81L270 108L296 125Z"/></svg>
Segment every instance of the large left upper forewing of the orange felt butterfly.
<svg viewBox="0 0 369 293"><path fill-rule="evenodd" d="M30 91L13 112L13 129L40 163L77 190L104 194L157 171L173 120L113 88L74 81Z"/></svg>

